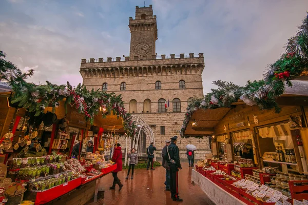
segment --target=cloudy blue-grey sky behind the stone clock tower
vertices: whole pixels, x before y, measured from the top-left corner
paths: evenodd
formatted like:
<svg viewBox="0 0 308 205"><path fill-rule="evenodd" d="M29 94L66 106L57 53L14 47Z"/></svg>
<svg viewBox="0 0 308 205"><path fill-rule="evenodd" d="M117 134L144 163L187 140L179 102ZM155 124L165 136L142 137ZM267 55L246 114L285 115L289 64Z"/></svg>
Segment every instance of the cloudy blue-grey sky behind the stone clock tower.
<svg viewBox="0 0 308 205"><path fill-rule="evenodd" d="M0 0L0 50L28 81L76 85L82 58L129 55L129 16L144 1ZM156 52L204 53L204 92L213 80L262 78L306 16L307 0L147 0L157 15Z"/></svg>

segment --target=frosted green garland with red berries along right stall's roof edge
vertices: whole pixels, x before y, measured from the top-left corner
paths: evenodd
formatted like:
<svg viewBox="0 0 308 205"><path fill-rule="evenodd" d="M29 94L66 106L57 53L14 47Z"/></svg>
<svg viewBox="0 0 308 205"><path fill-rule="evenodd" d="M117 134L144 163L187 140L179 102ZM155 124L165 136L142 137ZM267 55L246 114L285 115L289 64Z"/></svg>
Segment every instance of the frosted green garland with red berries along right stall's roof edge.
<svg viewBox="0 0 308 205"><path fill-rule="evenodd" d="M244 87L214 81L218 89L211 89L203 98L193 98L187 107L180 135L185 137L188 122L196 110L230 107L238 100L249 106L257 105L260 109L275 108L279 113L281 109L275 99L283 94L285 86L292 86L292 79L308 71L308 15L298 28L296 35L288 39L285 53L268 66L263 80L247 81Z"/></svg>

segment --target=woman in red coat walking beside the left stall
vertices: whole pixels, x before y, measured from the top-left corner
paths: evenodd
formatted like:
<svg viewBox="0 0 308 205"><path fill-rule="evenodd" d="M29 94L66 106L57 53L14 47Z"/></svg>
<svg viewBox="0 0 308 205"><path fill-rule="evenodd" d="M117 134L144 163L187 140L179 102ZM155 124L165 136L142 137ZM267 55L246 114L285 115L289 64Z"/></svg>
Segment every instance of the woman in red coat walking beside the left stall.
<svg viewBox="0 0 308 205"><path fill-rule="evenodd" d="M114 150L113 150L113 155L112 155L112 161L117 163L117 169L115 169L112 172L112 176L113 176L113 184L112 187L110 187L110 189L115 189L115 185L118 184L120 189L119 191L122 189L123 185L118 177L118 172L122 171L122 149L120 147L121 145L118 143L117 145L114 145Z"/></svg>

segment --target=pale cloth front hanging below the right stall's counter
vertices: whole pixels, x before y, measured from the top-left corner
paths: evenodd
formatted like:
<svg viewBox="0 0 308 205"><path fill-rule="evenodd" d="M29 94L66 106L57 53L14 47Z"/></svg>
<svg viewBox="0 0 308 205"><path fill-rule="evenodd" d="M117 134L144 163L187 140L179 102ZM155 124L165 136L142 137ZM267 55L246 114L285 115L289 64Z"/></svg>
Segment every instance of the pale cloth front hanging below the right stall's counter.
<svg viewBox="0 0 308 205"><path fill-rule="evenodd" d="M238 205L246 204L243 201L237 199L233 195L227 193L208 178L198 173L196 170L191 172L191 181L195 185L199 185L202 191L208 196L208 198L215 204L219 205Z"/></svg>

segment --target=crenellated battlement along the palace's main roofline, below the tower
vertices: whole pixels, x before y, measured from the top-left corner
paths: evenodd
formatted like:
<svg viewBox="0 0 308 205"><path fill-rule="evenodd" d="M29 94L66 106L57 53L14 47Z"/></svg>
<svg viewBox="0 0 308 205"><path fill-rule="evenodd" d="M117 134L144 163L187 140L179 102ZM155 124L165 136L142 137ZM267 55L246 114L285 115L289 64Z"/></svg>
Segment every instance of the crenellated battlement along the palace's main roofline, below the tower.
<svg viewBox="0 0 308 205"><path fill-rule="evenodd" d="M134 77L153 75L201 74L204 68L203 53L176 56L160 55L153 59L129 57L82 59L80 73L83 78Z"/></svg>

